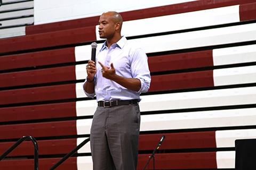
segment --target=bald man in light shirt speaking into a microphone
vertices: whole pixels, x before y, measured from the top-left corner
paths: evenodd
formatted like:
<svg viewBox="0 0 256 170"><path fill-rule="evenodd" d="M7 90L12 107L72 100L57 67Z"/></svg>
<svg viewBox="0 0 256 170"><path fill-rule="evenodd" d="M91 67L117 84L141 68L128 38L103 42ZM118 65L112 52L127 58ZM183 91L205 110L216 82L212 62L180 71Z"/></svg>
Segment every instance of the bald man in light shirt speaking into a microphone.
<svg viewBox="0 0 256 170"><path fill-rule="evenodd" d="M138 103L151 79L147 55L121 36L122 23L117 12L100 16L99 35L106 41L99 47L96 62L90 60L86 66L83 88L88 97L96 96L98 102L90 134L94 170L137 167Z"/></svg>

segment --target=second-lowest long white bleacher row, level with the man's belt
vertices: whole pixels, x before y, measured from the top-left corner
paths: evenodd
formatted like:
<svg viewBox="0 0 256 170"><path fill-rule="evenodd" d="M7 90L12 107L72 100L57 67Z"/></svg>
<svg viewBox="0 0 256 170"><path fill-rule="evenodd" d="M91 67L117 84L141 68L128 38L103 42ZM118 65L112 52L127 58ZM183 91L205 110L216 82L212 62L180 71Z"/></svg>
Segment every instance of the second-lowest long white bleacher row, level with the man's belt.
<svg viewBox="0 0 256 170"><path fill-rule="evenodd" d="M82 89L82 86L81 86ZM163 111L200 107L255 104L256 87L191 91L141 96L140 111ZM93 102L95 105L93 105ZM93 115L96 100L77 101L77 115ZM86 112L88 111L88 112ZM90 111L90 112L89 112Z"/></svg>

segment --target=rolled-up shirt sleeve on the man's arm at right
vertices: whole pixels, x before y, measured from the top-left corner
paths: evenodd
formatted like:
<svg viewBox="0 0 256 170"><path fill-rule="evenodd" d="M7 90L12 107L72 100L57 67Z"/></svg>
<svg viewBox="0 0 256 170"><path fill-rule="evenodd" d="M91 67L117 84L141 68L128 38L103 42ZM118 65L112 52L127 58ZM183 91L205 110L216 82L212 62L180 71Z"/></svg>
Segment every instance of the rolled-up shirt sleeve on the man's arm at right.
<svg viewBox="0 0 256 170"><path fill-rule="evenodd" d="M148 57L141 48L135 49L131 57L132 77L139 79L141 83L139 93L147 92L150 87L151 77L148 67Z"/></svg>

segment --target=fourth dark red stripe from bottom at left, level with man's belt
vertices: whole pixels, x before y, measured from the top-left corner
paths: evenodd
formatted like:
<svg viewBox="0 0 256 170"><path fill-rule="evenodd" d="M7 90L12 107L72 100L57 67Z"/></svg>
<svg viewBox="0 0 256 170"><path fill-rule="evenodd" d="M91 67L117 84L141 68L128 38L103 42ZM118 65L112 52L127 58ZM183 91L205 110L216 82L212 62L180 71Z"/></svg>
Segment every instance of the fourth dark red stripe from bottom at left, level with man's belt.
<svg viewBox="0 0 256 170"><path fill-rule="evenodd" d="M0 122L37 120L59 117L76 117L76 103L69 102L0 108Z"/></svg>

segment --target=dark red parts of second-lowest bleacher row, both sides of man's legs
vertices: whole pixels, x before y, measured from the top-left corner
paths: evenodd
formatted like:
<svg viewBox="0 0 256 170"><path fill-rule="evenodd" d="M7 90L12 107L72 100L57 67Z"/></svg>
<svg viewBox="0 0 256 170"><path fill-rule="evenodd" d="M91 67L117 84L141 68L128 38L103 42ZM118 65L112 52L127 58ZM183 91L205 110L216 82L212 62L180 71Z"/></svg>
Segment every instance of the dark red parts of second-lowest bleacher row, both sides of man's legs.
<svg viewBox="0 0 256 170"><path fill-rule="evenodd" d="M159 150L163 149L191 149L216 148L215 131L210 132L183 132L165 134L143 134L139 137L139 150L154 150L165 135ZM38 140L40 155L67 154L77 145L77 139ZM0 153L11 147L14 142L0 142ZM89 145L89 144L86 144ZM22 143L9 156L33 155L34 147L30 141Z"/></svg>

